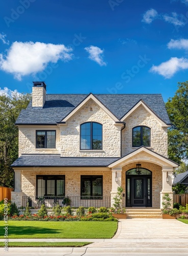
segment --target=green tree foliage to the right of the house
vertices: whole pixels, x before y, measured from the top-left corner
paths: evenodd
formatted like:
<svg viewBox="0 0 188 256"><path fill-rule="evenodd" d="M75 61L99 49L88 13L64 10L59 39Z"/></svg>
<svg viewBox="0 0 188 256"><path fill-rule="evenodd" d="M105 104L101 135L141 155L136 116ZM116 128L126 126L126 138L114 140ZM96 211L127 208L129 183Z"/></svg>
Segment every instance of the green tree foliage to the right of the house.
<svg viewBox="0 0 188 256"><path fill-rule="evenodd" d="M172 123L168 131L168 155L181 163L188 159L188 81L178 82L178 90L168 99L166 108Z"/></svg>

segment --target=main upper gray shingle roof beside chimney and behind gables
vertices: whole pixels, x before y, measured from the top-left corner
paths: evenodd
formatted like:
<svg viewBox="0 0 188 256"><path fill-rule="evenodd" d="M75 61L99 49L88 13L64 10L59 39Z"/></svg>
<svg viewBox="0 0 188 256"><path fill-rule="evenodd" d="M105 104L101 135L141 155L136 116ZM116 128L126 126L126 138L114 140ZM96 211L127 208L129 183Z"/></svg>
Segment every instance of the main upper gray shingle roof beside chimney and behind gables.
<svg viewBox="0 0 188 256"><path fill-rule="evenodd" d="M26 110L21 111L16 124L56 125L87 96L86 94L46 94L43 109L32 109L32 101L30 101ZM160 119L170 124L161 94L94 94L94 96L119 120L143 100Z"/></svg>

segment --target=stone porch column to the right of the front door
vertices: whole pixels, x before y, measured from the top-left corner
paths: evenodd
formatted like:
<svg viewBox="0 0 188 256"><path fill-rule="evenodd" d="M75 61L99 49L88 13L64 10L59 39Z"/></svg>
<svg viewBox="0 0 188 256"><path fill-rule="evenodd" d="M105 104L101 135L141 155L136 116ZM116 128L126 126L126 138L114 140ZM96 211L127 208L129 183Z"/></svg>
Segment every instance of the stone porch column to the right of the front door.
<svg viewBox="0 0 188 256"><path fill-rule="evenodd" d="M172 192L172 183L173 183L173 167L163 166L163 189L160 192L160 208L163 208L162 202L164 194L168 193L170 198L172 198L172 207L173 207L173 192Z"/></svg>

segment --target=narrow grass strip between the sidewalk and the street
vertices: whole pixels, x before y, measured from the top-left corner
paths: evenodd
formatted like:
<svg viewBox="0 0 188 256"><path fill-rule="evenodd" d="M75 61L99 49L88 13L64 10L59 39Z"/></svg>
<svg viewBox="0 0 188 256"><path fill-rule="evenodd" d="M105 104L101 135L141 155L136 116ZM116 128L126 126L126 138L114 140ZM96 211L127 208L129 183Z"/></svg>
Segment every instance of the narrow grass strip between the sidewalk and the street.
<svg viewBox="0 0 188 256"><path fill-rule="evenodd" d="M83 247L91 244L89 242L9 242L8 247ZM0 242L0 247L5 244Z"/></svg>

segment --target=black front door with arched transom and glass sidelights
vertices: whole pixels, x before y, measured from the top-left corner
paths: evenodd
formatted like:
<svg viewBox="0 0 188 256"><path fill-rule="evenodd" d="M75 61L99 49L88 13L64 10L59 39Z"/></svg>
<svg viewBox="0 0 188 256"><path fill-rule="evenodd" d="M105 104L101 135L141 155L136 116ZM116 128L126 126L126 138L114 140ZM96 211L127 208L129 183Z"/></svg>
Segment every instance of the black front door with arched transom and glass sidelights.
<svg viewBox="0 0 188 256"><path fill-rule="evenodd" d="M136 168L126 172L126 206L127 207L152 207L152 172Z"/></svg>

